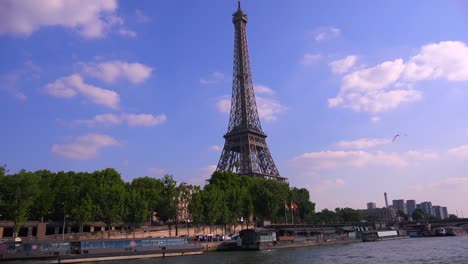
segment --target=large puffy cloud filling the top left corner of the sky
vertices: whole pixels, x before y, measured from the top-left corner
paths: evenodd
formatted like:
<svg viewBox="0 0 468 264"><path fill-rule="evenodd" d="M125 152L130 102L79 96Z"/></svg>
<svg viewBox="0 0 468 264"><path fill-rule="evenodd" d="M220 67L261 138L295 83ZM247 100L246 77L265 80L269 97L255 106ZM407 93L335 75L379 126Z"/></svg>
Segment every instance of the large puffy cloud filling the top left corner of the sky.
<svg viewBox="0 0 468 264"><path fill-rule="evenodd" d="M41 27L77 30L84 38L100 38L123 23L116 0L0 1L0 35L30 36Z"/></svg>

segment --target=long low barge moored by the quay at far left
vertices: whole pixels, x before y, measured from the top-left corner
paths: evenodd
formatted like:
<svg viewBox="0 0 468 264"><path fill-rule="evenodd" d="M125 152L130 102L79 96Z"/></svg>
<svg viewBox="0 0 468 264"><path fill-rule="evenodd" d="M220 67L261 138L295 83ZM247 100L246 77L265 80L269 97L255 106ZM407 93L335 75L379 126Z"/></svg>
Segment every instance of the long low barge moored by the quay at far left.
<svg viewBox="0 0 468 264"><path fill-rule="evenodd" d="M0 262L44 260L48 263L96 261L199 255L200 244L186 238L145 238L74 241L11 241L0 244Z"/></svg>

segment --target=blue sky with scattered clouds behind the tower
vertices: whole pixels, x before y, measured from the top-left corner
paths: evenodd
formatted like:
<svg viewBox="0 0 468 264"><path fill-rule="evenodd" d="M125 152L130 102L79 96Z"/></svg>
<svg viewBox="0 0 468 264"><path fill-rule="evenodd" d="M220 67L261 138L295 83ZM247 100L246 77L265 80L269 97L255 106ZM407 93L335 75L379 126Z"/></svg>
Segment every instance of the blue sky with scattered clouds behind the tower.
<svg viewBox="0 0 468 264"><path fill-rule="evenodd" d="M236 7L1 1L0 162L203 184L228 125ZM318 209L387 192L468 215L466 3L242 8L262 127L292 186Z"/></svg>

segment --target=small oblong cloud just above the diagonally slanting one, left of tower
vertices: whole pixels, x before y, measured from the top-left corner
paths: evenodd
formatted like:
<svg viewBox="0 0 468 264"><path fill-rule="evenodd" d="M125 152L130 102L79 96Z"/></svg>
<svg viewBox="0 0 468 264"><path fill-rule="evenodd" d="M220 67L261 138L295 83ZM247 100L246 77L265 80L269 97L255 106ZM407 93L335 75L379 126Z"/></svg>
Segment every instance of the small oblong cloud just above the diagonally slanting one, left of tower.
<svg viewBox="0 0 468 264"><path fill-rule="evenodd" d="M141 83L147 80L153 69L138 62L107 61L101 63L83 63L83 73L113 83L119 79L126 79L131 83Z"/></svg>

